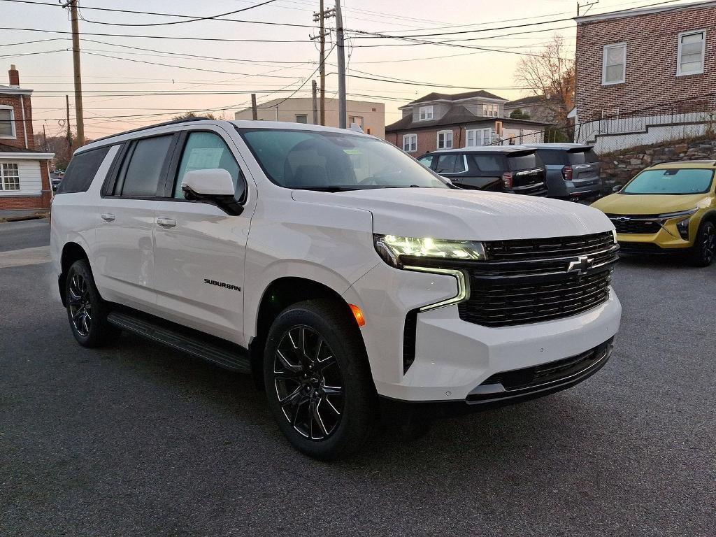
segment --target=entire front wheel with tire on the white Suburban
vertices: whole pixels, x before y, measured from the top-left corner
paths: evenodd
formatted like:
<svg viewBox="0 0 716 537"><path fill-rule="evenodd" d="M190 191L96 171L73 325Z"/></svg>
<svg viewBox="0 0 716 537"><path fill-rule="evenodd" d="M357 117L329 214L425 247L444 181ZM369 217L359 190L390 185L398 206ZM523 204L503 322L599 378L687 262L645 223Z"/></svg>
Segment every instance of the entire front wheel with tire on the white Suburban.
<svg viewBox="0 0 716 537"><path fill-rule="evenodd" d="M269 330L263 379L291 445L319 460L356 453L377 422L377 395L358 326L328 300L293 304Z"/></svg>

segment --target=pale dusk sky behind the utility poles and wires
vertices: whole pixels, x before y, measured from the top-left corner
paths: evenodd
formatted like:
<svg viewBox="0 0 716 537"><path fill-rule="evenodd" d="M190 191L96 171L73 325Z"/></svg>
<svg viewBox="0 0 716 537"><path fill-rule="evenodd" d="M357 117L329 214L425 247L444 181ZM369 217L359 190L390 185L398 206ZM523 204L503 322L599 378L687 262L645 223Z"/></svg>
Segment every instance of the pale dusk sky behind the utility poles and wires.
<svg viewBox="0 0 716 537"><path fill-rule="evenodd" d="M34 89L35 130L42 131L44 124L48 135L58 135L64 132L60 120L65 115L65 93L70 95L74 125L72 44L69 33L53 32L70 32L70 22L57 1L33 1L46 5L0 0L0 25L4 26L0 32L4 64L0 84L7 84L6 70L16 64L21 87ZM589 14L658 3L601 0L591 6ZM233 119L234 111L250 104L251 92L258 95L260 106L276 97L288 97L306 81L295 95L309 97L310 78L318 79L317 73L311 76L318 67L317 45L309 39L317 33L312 16L319 9L317 0L276 0L226 16L236 21L190 21L90 9L202 17L256 4L261 0L80 1L87 137L161 122L189 110L208 110ZM332 1L326 1L326 9L332 6ZM486 89L506 99L528 95L526 89L516 87L514 79L521 58L518 53L541 51L554 34L563 36L566 51L574 53L574 0L347 0L343 6L349 37L348 73L352 75L347 80L348 98L384 102L386 123L400 118L397 107L433 91ZM184 22L147 26L176 21ZM334 26L334 21L329 19L327 24ZM546 24L521 26L535 22ZM441 34L420 39L461 40L415 44L409 39L371 37L361 32ZM334 36L328 39L326 50L332 48ZM336 59L333 50L326 60L327 97L337 92ZM375 78L382 80L372 80Z"/></svg>

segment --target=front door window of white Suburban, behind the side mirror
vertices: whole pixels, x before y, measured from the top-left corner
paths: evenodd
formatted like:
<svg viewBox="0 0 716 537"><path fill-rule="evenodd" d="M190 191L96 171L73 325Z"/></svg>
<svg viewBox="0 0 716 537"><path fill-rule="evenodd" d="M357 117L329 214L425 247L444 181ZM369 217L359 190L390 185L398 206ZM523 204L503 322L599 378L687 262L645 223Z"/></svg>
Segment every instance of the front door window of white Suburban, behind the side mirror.
<svg viewBox="0 0 716 537"><path fill-rule="evenodd" d="M238 185L239 178L243 180L238 163L221 136L214 132L191 132L186 139L179 163L174 183L174 198L184 198L181 182L187 172L214 168L221 168L231 173L234 188Z"/></svg>

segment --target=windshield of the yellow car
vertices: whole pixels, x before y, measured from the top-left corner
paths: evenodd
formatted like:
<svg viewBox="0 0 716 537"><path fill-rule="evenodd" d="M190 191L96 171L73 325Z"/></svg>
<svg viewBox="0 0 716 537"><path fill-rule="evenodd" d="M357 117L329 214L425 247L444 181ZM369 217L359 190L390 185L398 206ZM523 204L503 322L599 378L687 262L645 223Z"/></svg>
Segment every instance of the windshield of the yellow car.
<svg viewBox="0 0 716 537"><path fill-rule="evenodd" d="M701 194L711 188L714 170L682 168L644 170L621 194Z"/></svg>

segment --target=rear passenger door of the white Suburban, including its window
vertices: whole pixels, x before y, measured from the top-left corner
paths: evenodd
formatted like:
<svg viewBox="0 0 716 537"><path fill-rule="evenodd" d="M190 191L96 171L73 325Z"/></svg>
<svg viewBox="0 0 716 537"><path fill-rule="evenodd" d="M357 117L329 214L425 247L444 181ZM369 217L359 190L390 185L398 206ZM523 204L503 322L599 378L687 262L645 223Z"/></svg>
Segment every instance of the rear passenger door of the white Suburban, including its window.
<svg viewBox="0 0 716 537"><path fill-rule="evenodd" d="M95 278L103 298L154 312L153 231L157 193L164 186L174 133L122 146L102 189L95 244Z"/></svg>

